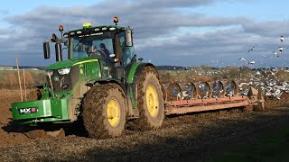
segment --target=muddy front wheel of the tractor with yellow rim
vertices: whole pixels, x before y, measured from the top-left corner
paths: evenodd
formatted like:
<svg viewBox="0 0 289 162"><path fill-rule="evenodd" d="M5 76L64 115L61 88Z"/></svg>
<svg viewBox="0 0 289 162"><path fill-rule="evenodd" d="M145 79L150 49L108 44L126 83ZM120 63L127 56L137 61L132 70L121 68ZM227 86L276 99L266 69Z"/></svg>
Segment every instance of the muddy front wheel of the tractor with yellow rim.
<svg viewBox="0 0 289 162"><path fill-rule="evenodd" d="M89 136L104 139L121 135L126 123L125 97L117 84L97 85L89 89L82 112Z"/></svg>

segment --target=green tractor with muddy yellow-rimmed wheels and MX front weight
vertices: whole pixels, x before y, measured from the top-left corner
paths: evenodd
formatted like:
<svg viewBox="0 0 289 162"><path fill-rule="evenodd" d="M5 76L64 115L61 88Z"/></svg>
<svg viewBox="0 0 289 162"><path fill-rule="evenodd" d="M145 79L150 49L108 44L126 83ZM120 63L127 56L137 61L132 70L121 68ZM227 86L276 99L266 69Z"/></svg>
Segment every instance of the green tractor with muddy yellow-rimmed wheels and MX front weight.
<svg viewBox="0 0 289 162"><path fill-rule="evenodd" d="M44 58L50 58L55 43L56 62L47 67L47 82L33 99L12 104L13 120L56 127L81 119L94 138L121 135L126 121L138 130L159 128L164 105L157 70L136 60L132 29L118 26L117 17L114 23L84 23L63 34L60 26L61 38L53 33L43 42Z"/></svg>

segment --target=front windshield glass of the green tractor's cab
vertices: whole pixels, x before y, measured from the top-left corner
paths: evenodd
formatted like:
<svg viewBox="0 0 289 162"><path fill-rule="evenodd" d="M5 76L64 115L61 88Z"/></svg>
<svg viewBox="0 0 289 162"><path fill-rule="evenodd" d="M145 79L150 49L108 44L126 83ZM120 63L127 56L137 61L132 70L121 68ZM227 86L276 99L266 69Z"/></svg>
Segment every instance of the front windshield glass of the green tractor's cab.
<svg viewBox="0 0 289 162"><path fill-rule="evenodd" d="M70 45L70 58L88 58L95 51L106 50L107 55L114 52L111 32L73 37Z"/></svg>

